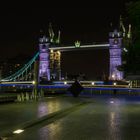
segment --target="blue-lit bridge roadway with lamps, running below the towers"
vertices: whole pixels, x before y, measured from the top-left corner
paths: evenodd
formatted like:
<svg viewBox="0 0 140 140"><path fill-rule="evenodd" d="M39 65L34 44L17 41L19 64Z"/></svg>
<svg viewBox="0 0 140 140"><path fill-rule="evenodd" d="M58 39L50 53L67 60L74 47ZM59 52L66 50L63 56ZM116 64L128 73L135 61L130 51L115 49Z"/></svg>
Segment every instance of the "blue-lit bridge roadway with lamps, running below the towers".
<svg viewBox="0 0 140 140"><path fill-rule="evenodd" d="M44 88L44 89L67 89L68 87L71 86L71 84L74 81L64 81L64 82L60 82L60 81L56 81L53 83L53 85L38 85L37 87L40 88ZM129 87L128 85L103 85L102 81L81 81L80 82L81 85L84 87L85 90L108 90L108 91L113 91L113 90L117 90L117 91L126 91L126 92L140 92L140 88L132 88ZM94 85L92 85L92 83L94 83ZM2 82L0 84L0 87L24 87L24 88L34 88L35 84L32 81L25 81L25 82Z"/></svg>

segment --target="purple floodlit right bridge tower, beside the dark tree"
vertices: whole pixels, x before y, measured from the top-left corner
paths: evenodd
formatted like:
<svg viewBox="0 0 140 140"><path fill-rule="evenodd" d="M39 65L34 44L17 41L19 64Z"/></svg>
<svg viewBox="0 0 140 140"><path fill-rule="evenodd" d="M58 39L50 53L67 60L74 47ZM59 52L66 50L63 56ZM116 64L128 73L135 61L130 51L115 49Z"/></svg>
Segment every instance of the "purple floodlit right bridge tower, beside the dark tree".
<svg viewBox="0 0 140 140"><path fill-rule="evenodd" d="M110 53L110 80L122 80L123 72L117 69L122 65L122 34L115 30L109 34Z"/></svg>

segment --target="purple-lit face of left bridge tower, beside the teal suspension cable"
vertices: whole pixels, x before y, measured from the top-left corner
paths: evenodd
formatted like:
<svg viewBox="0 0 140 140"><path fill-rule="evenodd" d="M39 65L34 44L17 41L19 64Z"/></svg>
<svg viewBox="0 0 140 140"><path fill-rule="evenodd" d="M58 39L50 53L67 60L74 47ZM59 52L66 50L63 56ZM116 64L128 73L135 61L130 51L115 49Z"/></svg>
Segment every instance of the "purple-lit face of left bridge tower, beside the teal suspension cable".
<svg viewBox="0 0 140 140"><path fill-rule="evenodd" d="M50 42L43 36L39 39L39 82L50 81Z"/></svg>

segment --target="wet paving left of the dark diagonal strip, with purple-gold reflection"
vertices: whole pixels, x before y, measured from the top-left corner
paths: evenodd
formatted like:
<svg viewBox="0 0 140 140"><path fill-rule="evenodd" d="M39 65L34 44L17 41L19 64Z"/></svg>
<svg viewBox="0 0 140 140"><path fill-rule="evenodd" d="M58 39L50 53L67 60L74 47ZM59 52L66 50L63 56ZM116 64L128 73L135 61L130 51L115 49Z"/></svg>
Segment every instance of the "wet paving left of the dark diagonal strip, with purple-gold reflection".
<svg viewBox="0 0 140 140"><path fill-rule="evenodd" d="M77 104L73 98L48 97L40 101L8 103L0 105L0 136L30 120Z"/></svg>

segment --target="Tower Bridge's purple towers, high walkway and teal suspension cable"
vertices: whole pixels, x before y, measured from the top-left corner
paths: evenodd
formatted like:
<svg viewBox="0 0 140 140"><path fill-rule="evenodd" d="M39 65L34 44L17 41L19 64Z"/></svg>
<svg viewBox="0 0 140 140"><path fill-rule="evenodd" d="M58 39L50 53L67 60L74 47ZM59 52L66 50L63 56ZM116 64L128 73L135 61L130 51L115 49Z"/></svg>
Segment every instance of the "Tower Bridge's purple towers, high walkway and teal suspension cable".
<svg viewBox="0 0 140 140"><path fill-rule="evenodd" d="M120 22L122 26L122 21ZM33 56L33 58L25 64L16 73L2 78L1 82L4 81L33 81L45 82L51 80L61 80L61 52L64 51L78 51L78 50L89 50L89 49L108 49L109 51L109 79L110 80L122 80L124 74L118 70L118 66L122 65L122 53L126 48L124 47L123 40L131 39L131 31L129 26L128 34L126 30L109 33L108 43L80 45L76 42L73 46L61 46L59 44L60 32L58 38L54 43L54 34L50 30L50 36L46 37L43 35L39 38L39 51ZM124 27L123 27L124 28ZM125 48L125 49L124 49ZM37 60L38 59L38 63Z"/></svg>

